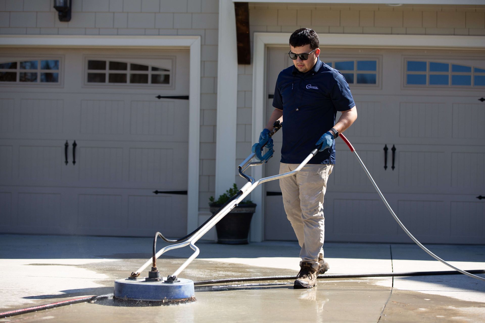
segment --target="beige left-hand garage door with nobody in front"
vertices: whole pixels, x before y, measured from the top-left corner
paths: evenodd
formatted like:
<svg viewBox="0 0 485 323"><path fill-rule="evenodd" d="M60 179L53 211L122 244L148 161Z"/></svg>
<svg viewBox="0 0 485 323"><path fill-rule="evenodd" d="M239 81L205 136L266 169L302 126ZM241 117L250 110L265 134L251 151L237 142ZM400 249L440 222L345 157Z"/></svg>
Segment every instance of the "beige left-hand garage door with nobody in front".
<svg viewBox="0 0 485 323"><path fill-rule="evenodd" d="M1 232L185 234L188 60L2 49Z"/></svg>

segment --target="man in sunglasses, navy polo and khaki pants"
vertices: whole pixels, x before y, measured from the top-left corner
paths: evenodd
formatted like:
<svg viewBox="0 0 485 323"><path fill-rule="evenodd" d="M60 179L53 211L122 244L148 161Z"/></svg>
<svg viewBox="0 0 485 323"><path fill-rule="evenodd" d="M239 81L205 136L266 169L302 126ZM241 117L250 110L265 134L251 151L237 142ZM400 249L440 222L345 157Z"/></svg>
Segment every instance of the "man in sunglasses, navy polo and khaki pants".
<svg viewBox="0 0 485 323"><path fill-rule="evenodd" d="M335 164L335 138L357 118L345 78L319 59L318 35L308 28L290 37L293 65L276 80L273 111L259 140L267 138L276 120L284 122L280 173L295 169L315 148L319 153L295 175L280 180L283 204L300 251L300 272L294 288L312 288L329 269L323 260L323 196ZM337 111L342 115L335 123ZM272 148L273 139L266 144Z"/></svg>

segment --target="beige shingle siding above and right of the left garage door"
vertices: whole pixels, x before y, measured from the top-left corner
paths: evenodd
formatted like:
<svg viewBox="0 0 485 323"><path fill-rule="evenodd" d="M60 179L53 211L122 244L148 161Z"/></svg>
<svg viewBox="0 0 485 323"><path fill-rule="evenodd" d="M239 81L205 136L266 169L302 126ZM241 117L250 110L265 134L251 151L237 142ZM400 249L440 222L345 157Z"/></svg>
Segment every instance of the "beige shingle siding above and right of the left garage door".
<svg viewBox="0 0 485 323"><path fill-rule="evenodd" d="M0 34L200 35L199 207L214 195L219 0L73 0L61 22L52 0L0 0Z"/></svg>

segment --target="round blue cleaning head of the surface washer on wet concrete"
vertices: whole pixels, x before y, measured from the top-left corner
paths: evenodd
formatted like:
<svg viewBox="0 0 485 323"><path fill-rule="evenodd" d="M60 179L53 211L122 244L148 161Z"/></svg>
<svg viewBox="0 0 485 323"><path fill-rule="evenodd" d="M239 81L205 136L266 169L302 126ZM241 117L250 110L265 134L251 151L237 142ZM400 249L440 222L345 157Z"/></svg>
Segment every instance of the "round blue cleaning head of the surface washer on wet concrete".
<svg viewBox="0 0 485 323"><path fill-rule="evenodd" d="M177 278L175 282L146 281L145 278L118 279L114 281L114 299L119 301L143 301L168 305L194 302L194 281Z"/></svg>

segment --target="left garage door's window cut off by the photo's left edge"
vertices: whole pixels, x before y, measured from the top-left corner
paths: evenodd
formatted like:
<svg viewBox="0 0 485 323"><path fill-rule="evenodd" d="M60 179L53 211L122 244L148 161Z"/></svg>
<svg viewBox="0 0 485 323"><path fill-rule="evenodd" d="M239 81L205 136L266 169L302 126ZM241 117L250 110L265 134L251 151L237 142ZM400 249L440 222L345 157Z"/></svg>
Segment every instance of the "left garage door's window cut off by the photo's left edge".
<svg viewBox="0 0 485 323"><path fill-rule="evenodd" d="M60 60L0 62L0 82L23 84L59 83Z"/></svg>

